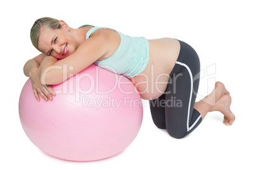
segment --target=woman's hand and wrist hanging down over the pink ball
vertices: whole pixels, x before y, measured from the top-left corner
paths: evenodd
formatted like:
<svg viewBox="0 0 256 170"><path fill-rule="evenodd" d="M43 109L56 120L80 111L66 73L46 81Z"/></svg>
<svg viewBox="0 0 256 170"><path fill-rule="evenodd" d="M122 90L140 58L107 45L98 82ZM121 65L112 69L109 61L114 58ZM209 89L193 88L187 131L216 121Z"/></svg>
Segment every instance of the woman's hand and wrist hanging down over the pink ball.
<svg viewBox="0 0 256 170"><path fill-rule="evenodd" d="M40 100L39 95L45 100L52 100L52 95L55 96L55 92L49 85L41 84L38 76L38 68L31 69L29 72L31 79L32 89L36 100ZM39 94L39 95L38 95Z"/></svg>

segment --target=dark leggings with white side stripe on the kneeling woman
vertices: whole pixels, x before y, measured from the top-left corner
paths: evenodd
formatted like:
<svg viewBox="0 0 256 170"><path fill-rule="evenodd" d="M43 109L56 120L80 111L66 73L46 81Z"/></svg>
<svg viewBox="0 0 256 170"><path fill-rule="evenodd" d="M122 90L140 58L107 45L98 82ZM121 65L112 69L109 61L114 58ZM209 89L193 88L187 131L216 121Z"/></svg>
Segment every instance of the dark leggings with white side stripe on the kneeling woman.
<svg viewBox="0 0 256 170"><path fill-rule="evenodd" d="M180 42L180 54L171 71L163 95L150 100L153 122L174 138L183 138L201 123L201 114L194 109L200 77L200 61L196 51Z"/></svg>

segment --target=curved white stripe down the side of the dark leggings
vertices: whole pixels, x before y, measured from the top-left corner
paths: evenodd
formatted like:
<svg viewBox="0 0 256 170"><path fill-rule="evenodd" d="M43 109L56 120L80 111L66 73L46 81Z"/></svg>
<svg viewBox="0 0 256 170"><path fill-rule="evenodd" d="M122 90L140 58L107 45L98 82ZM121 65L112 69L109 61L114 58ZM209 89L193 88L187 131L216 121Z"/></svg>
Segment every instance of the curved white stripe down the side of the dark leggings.
<svg viewBox="0 0 256 170"><path fill-rule="evenodd" d="M192 91L193 91L193 76L192 76L191 70L189 69L189 67L185 63L181 63L181 62L176 62L176 63L179 64L179 65L184 66L188 70L188 73L190 75L190 84L191 84L191 86L190 86L190 97L189 97L189 102L188 102L188 116L187 116L187 131L190 131L196 125L196 123L199 121L199 119L201 118L201 115L199 115L199 117L196 119L194 124L192 124L192 126L189 127L189 114L190 114L189 110L190 110L190 103L191 103Z"/></svg>

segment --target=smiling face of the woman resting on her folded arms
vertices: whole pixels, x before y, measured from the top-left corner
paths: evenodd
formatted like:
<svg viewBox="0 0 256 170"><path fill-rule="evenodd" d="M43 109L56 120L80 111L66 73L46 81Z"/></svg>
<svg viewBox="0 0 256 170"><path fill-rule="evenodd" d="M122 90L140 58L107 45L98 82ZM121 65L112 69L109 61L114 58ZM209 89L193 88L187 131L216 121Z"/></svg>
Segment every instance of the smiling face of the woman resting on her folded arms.
<svg viewBox="0 0 256 170"><path fill-rule="evenodd" d="M61 29L41 27L38 49L42 53L55 58L65 58L74 53L77 48L77 41L69 31L68 25L63 24Z"/></svg>

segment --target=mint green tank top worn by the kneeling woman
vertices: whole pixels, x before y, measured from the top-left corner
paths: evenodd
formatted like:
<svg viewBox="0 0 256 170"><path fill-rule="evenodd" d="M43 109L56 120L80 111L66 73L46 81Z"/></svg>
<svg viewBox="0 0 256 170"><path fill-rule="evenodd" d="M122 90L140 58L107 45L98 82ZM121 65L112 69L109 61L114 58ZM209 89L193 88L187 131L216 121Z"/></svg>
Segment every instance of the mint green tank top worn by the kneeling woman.
<svg viewBox="0 0 256 170"><path fill-rule="evenodd" d="M89 39L92 33L99 29L110 28L93 27L87 32L86 39ZM129 37L120 32L118 32L118 34L120 35L121 42L117 51L115 51L115 53L108 58L96 60L94 63L99 67L110 70L111 72L115 72L117 74L122 74L128 78L141 74L141 72L143 72L143 70L146 68L146 65L148 65L148 40L145 39L145 37Z"/></svg>

